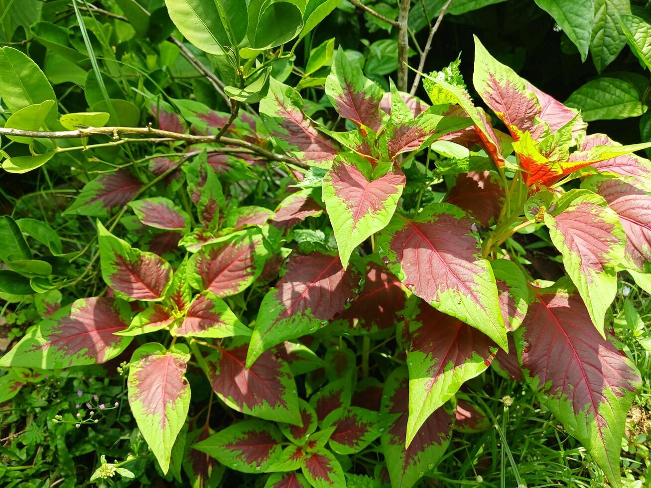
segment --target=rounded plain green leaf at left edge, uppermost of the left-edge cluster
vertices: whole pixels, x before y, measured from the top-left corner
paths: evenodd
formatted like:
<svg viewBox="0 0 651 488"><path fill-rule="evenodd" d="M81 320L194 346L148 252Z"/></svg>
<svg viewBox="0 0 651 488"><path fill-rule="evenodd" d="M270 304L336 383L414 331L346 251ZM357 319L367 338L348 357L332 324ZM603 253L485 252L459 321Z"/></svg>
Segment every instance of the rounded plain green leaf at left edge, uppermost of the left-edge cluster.
<svg viewBox="0 0 651 488"><path fill-rule="evenodd" d="M5 106L17 112L28 105L57 100L48 79L34 61L13 47L0 49L0 96ZM51 116L56 114L53 107Z"/></svg>

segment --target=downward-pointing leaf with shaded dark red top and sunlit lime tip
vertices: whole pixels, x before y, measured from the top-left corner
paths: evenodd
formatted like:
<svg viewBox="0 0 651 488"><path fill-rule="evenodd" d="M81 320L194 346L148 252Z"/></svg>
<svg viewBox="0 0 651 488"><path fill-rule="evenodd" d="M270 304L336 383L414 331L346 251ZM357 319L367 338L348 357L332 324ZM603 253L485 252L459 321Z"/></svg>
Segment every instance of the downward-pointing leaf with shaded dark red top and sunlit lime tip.
<svg viewBox="0 0 651 488"><path fill-rule="evenodd" d="M497 353L488 336L422 302L409 323L409 337L407 446L429 416L484 372Z"/></svg>

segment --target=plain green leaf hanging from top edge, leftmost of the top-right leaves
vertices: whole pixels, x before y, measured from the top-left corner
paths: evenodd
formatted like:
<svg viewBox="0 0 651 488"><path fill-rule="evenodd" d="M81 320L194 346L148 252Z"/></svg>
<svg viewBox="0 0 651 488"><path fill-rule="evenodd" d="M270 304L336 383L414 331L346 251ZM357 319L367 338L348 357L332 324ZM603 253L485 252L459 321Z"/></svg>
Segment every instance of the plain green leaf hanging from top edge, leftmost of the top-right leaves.
<svg viewBox="0 0 651 488"><path fill-rule="evenodd" d="M594 7L592 0L535 0L536 5L551 15L562 31L574 42L581 61L588 57Z"/></svg>

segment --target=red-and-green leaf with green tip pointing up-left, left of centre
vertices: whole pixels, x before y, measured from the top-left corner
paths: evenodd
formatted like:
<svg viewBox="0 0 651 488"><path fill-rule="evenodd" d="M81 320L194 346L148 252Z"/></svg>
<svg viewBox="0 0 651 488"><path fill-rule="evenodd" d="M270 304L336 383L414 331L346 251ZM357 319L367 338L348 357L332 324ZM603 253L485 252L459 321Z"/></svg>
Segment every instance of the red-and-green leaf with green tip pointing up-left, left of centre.
<svg viewBox="0 0 651 488"><path fill-rule="evenodd" d="M172 278L172 267L153 252L132 248L98 221L102 277L120 298L158 301Z"/></svg>

